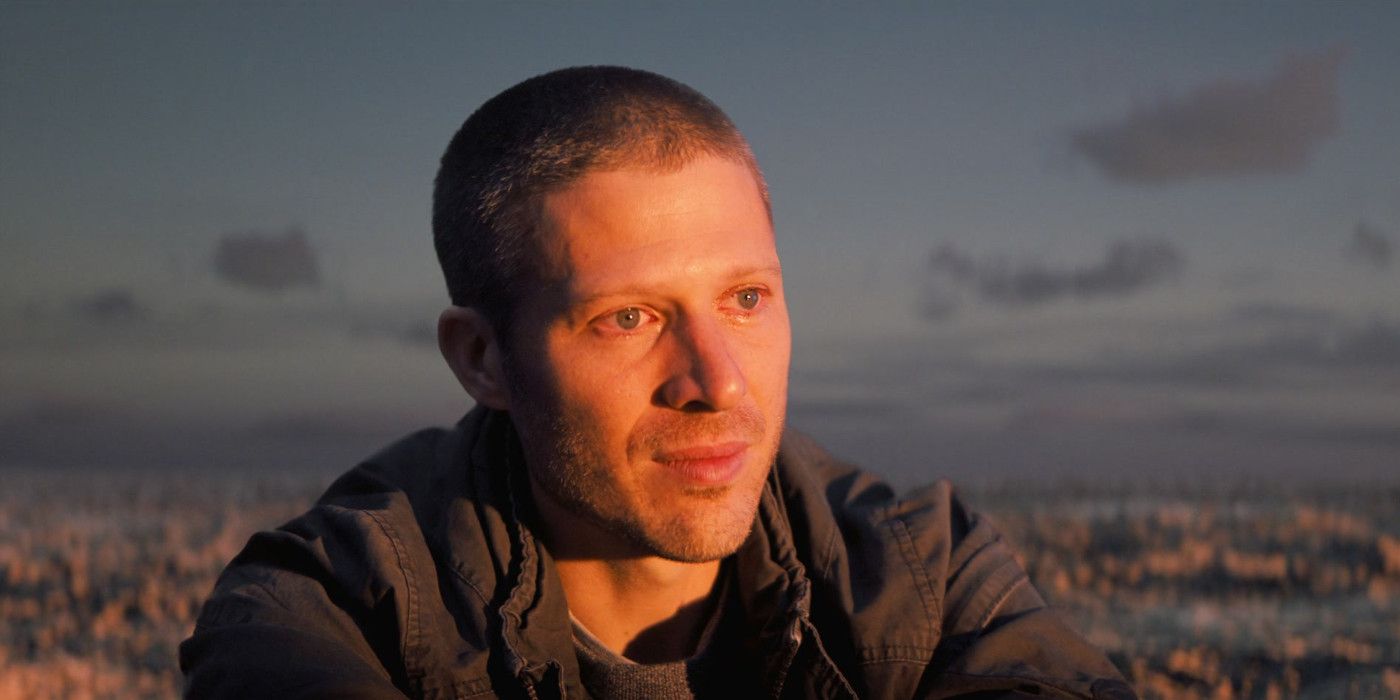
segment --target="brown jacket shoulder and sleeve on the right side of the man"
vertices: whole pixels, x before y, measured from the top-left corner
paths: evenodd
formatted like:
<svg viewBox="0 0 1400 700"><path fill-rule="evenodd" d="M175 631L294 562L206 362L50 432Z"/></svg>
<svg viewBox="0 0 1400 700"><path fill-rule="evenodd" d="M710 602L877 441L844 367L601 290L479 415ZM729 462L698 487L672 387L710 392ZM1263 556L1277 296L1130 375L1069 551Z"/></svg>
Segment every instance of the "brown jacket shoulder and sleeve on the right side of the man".
<svg viewBox="0 0 1400 700"><path fill-rule="evenodd" d="M841 630L830 645L847 647L871 687L1131 697L949 482L900 496L798 433L784 437L777 469L813 620Z"/></svg>

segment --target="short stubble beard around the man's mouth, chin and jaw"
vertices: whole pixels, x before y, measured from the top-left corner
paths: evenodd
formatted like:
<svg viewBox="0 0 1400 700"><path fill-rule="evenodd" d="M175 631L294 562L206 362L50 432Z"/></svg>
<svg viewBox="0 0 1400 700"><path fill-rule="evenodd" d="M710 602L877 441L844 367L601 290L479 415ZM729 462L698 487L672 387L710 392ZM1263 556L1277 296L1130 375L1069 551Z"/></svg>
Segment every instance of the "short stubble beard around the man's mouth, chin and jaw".
<svg viewBox="0 0 1400 700"><path fill-rule="evenodd" d="M640 430L629 440L629 454L650 454L661 445L685 445L707 437L743 435L763 451L762 469L746 465L734 483L676 489L665 498L654 493L624 494L608 466L601 435L584 421L552 412L545 430L532 431L532 480L556 504L605 532L616 533L640 550L672 561L701 563L724 559L748 539L757 514L763 483L777 456L777 434L752 406L724 414L676 414ZM622 465L631 469L631 465ZM650 476L650 475L643 475ZM644 480L629 482L645 490ZM669 486L669 484L668 484ZM627 496L631 496L629 498Z"/></svg>

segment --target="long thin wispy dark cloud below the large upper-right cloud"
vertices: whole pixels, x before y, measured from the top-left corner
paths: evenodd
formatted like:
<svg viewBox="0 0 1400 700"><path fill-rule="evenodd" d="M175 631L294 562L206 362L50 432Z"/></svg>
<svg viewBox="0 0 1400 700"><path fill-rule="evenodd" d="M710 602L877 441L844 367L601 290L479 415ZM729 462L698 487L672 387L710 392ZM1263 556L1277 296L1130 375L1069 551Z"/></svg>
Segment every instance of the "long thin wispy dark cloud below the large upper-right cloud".
<svg viewBox="0 0 1400 700"><path fill-rule="evenodd" d="M1043 263L1011 265L1004 259L974 260L945 244L934 251L930 270L935 280L969 290L984 301L1030 305L1061 298L1126 297L1176 274L1184 256L1169 241L1114 241L1103 259L1071 269ZM931 290L924 312L942 318L956 308L956 300Z"/></svg>

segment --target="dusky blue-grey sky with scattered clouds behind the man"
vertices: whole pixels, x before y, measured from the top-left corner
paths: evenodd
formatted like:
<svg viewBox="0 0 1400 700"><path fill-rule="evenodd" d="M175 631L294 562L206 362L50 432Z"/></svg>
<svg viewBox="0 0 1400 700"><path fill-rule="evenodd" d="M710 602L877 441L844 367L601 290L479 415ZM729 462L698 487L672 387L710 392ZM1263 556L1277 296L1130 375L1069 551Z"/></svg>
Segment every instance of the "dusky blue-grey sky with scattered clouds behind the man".
<svg viewBox="0 0 1400 700"><path fill-rule="evenodd" d="M790 426L903 486L1400 476L1396 3L0 3L0 469L340 470L470 402L437 160L571 64L749 137Z"/></svg>

